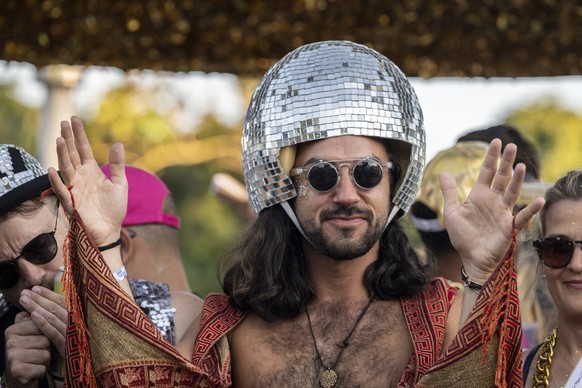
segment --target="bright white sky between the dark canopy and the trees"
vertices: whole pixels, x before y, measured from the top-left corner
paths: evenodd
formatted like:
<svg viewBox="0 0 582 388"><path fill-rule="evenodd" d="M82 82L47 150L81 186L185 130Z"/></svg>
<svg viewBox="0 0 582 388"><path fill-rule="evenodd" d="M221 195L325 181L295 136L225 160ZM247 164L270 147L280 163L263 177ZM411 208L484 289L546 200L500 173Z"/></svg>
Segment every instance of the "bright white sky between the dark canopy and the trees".
<svg viewBox="0 0 582 388"><path fill-rule="evenodd" d="M80 112L94 114L100 99L122 84L125 73L115 68L89 68L72 98ZM232 74L130 73L144 86L165 80L185 105L178 125L186 128L204 114L216 113L225 124L244 117L246 103ZM508 113L535 102L553 101L582 115L582 76L537 78L420 78L410 79L423 109L427 134L427 160L450 147L466 132L500 124ZM47 91L37 80L36 68L25 63L0 61L0 83L14 83L16 96L40 107ZM163 101L161 102L163 104Z"/></svg>

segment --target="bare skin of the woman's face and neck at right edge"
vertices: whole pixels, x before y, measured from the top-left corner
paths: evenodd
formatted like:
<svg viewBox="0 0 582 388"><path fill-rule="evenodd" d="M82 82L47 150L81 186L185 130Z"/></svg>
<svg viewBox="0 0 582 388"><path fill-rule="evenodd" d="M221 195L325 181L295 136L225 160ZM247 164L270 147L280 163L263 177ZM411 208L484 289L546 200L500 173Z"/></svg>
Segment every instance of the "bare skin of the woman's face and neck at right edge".
<svg viewBox="0 0 582 388"><path fill-rule="evenodd" d="M582 200L556 202L546 213L544 237L582 240ZM577 245L563 268L543 267L545 280L558 311L558 337L550 368L550 387L562 387L582 356L582 248ZM533 386L540 350L534 356L525 386ZM526 357L527 355L524 355Z"/></svg>

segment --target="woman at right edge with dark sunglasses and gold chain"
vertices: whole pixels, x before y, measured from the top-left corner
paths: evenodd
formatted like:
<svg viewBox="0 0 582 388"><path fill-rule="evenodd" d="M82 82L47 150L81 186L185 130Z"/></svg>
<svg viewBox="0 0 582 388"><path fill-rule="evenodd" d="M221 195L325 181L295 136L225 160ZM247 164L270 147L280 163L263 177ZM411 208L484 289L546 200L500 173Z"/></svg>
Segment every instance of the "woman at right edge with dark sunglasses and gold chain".
<svg viewBox="0 0 582 388"><path fill-rule="evenodd" d="M582 170L558 179L545 198L534 247L557 315L547 338L525 355L528 387L564 386L582 355Z"/></svg>

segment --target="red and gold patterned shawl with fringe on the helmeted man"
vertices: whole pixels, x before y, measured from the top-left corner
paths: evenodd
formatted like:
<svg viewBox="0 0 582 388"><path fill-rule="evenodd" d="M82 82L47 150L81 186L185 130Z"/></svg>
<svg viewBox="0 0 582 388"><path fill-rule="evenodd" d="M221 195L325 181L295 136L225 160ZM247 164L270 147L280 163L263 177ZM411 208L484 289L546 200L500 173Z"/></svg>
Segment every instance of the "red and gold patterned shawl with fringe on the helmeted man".
<svg viewBox="0 0 582 388"><path fill-rule="evenodd" d="M225 334L244 312L230 306L224 295L207 298L189 361L119 288L76 212L64 251L69 307L66 387L231 385ZM514 268L510 254L485 284L467 324L442 356L447 289L433 287L403 300L416 351L400 386L521 386Z"/></svg>

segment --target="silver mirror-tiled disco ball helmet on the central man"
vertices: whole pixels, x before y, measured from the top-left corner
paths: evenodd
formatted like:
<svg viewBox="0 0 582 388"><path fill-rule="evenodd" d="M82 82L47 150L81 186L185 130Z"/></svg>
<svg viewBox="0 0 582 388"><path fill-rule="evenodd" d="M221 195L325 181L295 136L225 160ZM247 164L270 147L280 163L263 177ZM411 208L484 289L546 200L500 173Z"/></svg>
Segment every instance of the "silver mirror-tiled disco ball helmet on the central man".
<svg viewBox="0 0 582 388"><path fill-rule="evenodd" d="M403 172L392 213L401 216L419 190L426 140L418 98L400 69L348 41L307 44L273 65L251 98L243 128L243 172L253 210L297 196L289 177L294 153L289 163L284 151L345 135L390 141Z"/></svg>

